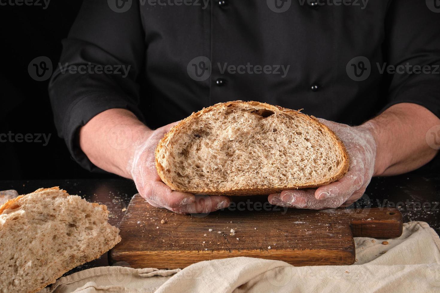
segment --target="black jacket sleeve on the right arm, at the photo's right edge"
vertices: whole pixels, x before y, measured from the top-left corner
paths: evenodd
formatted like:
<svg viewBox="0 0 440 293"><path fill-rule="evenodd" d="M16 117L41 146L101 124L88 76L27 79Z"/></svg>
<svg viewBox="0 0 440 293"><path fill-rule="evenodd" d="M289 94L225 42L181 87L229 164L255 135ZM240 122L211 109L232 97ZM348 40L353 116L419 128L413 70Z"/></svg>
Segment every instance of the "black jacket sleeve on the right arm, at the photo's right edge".
<svg viewBox="0 0 440 293"><path fill-rule="evenodd" d="M414 103L440 118L440 14L431 11L426 1L392 0L384 45L387 65L408 69L389 75L388 101L382 111L398 103ZM414 71L416 65L422 68L420 73ZM425 167L435 166L440 166L439 155Z"/></svg>

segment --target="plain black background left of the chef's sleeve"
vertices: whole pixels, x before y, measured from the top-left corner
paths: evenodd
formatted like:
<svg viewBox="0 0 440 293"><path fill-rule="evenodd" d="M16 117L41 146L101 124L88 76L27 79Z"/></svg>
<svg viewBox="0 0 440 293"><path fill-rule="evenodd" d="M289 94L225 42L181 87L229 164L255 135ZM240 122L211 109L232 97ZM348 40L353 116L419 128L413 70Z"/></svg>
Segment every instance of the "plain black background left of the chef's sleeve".
<svg viewBox="0 0 440 293"><path fill-rule="evenodd" d="M71 159L58 137L48 97L48 82L33 80L29 62L47 56L55 68L61 40L69 33L82 1L42 6L0 5L0 134L51 134L43 142L0 142L0 179L116 177L92 174ZM4 4L4 2L2 2Z"/></svg>

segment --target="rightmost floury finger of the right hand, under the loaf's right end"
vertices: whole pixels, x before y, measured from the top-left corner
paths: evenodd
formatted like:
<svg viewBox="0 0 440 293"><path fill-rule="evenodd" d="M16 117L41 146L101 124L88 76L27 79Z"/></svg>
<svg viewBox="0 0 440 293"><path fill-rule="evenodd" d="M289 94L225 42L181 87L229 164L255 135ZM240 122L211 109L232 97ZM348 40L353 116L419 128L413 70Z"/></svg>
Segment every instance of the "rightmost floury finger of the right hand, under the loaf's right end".
<svg viewBox="0 0 440 293"><path fill-rule="evenodd" d="M340 197L344 199L344 202L358 191L363 185L363 174L356 171L348 171L344 177L324 185L316 189L316 199L331 199Z"/></svg>

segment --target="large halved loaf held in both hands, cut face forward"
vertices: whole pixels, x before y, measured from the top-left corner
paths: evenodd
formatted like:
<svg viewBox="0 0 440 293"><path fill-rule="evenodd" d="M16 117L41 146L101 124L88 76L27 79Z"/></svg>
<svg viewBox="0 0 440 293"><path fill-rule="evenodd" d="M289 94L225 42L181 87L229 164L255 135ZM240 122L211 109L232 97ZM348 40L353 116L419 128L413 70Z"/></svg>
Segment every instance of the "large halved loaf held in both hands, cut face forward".
<svg viewBox="0 0 440 293"><path fill-rule="evenodd" d="M328 127L255 101L220 103L180 121L158 143L156 168L177 191L257 195L343 177L348 154Z"/></svg>

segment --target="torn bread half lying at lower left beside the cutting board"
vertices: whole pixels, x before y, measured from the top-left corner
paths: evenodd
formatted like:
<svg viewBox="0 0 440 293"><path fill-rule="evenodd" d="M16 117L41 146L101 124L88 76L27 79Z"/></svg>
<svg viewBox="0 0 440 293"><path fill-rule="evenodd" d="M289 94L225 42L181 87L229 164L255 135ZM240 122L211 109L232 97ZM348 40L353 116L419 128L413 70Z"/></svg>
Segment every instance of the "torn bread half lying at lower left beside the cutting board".
<svg viewBox="0 0 440 293"><path fill-rule="evenodd" d="M0 207L0 293L37 292L115 246L119 229L106 206L58 187L20 195Z"/></svg>

